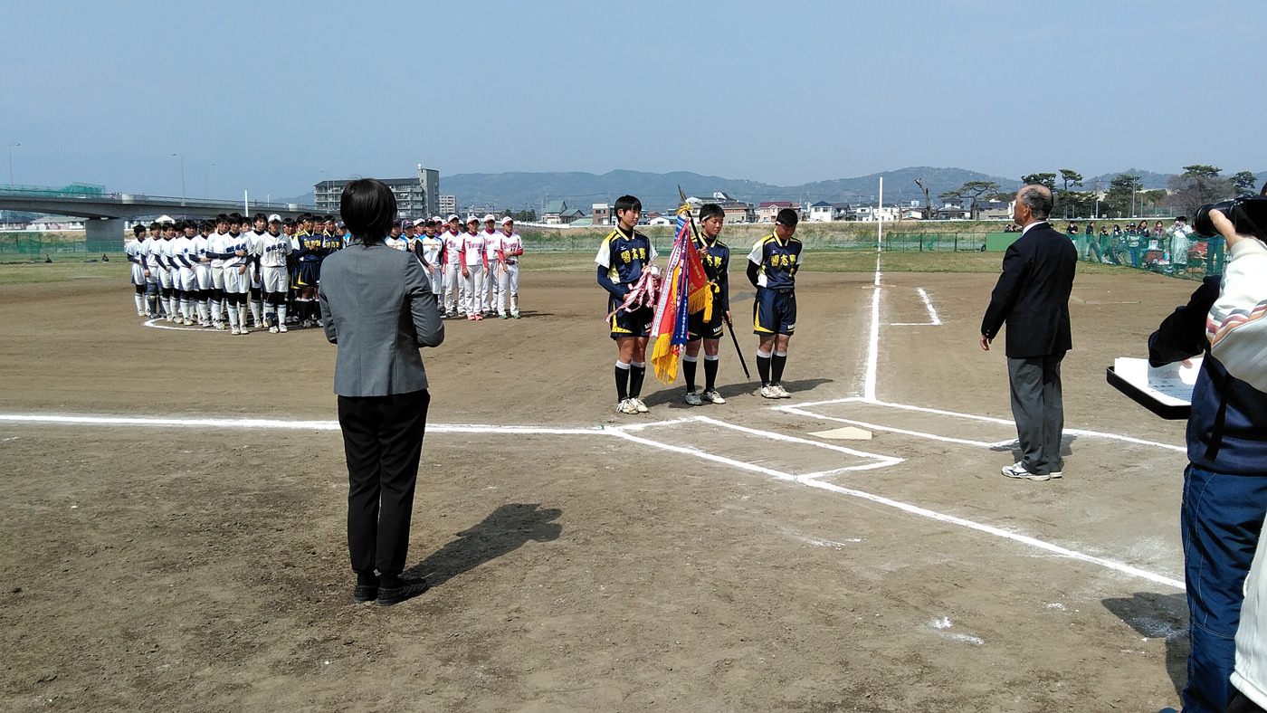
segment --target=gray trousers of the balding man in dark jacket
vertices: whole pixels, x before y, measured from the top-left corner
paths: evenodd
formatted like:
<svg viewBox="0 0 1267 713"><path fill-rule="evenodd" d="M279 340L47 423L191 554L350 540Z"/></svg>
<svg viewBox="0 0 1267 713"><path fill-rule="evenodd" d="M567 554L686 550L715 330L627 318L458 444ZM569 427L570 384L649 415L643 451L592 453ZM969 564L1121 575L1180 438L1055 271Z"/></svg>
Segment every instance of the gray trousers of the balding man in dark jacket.
<svg viewBox="0 0 1267 713"><path fill-rule="evenodd" d="M1064 352L1028 358L1007 357L1007 384L1012 393L1012 418L1025 470L1047 474L1064 470L1060 434L1064 404L1060 400L1060 360Z"/></svg>

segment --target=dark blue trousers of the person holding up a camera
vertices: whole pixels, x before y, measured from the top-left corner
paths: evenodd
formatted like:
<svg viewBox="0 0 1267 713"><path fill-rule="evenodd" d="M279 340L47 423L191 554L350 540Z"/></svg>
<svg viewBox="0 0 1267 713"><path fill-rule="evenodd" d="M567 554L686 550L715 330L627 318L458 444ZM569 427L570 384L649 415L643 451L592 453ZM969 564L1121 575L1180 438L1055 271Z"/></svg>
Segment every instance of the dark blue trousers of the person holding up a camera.
<svg viewBox="0 0 1267 713"><path fill-rule="evenodd" d="M1183 713L1223 713L1235 694L1243 586L1267 514L1267 475L1183 474L1183 569L1188 600L1188 683Z"/></svg>

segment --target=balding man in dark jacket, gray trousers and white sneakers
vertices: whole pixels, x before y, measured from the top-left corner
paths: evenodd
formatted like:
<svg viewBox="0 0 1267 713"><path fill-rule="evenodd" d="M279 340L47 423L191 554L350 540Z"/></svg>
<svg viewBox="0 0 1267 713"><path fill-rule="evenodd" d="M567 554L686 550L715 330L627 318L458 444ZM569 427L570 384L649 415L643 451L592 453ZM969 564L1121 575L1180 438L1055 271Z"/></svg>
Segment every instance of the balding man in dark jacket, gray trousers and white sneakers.
<svg viewBox="0 0 1267 713"><path fill-rule="evenodd" d="M1073 348L1069 291L1078 251L1047 223L1050 211L1047 186L1017 191L1012 215L1021 237L1003 253L1003 274L981 320L981 348L987 352L1007 324L1007 381L1022 457L1003 467L1003 475L1026 480L1063 475L1060 360Z"/></svg>

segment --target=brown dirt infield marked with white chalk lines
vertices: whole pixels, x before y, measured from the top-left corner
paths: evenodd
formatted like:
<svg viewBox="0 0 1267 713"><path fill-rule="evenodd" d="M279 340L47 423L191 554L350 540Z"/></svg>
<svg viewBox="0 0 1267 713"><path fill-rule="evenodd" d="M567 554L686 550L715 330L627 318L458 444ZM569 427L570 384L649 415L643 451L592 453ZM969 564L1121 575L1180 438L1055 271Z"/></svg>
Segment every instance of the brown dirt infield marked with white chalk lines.
<svg viewBox="0 0 1267 713"><path fill-rule="evenodd" d="M157 419L0 420L0 708L1173 705L1183 424L1104 370L1195 285L1077 280L1066 476L1029 483L1000 475L1006 365L976 343L993 280L802 274L793 399L755 396L725 343L730 403L649 377L651 413L618 417L593 277L526 272L525 319L424 352L409 561L433 589L393 608L351 603L319 331L147 328L122 281L0 285L0 415ZM874 438L813 436L846 424Z"/></svg>

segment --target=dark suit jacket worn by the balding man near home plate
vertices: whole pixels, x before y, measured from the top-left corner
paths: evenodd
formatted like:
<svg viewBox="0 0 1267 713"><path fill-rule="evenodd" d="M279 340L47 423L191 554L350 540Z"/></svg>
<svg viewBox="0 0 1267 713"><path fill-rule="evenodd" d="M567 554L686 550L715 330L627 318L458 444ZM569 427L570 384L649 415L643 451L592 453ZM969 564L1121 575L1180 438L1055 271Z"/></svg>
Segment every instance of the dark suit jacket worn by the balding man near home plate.
<svg viewBox="0 0 1267 713"><path fill-rule="evenodd" d="M1078 251L1067 236L1039 223L1003 253L1003 274L990 296L981 333L993 339L1007 323L1005 352L1028 358L1073 348L1069 293Z"/></svg>

